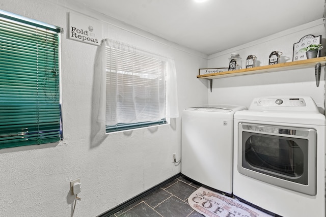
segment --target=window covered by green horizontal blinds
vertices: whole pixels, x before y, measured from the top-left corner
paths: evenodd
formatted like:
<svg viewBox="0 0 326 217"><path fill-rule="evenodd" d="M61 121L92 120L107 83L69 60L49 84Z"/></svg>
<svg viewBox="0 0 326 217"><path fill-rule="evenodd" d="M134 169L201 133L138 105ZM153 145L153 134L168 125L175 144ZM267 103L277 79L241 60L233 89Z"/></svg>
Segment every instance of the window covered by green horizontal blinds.
<svg viewBox="0 0 326 217"><path fill-rule="evenodd" d="M0 11L0 148L61 139L59 32Z"/></svg>

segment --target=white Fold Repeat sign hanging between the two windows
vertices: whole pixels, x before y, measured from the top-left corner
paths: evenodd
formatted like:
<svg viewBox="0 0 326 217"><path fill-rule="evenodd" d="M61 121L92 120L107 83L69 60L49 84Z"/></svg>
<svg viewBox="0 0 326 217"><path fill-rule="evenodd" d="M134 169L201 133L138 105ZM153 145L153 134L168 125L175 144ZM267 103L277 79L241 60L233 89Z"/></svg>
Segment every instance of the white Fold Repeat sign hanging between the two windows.
<svg viewBox="0 0 326 217"><path fill-rule="evenodd" d="M100 45L102 24L83 15L69 12L69 39Z"/></svg>

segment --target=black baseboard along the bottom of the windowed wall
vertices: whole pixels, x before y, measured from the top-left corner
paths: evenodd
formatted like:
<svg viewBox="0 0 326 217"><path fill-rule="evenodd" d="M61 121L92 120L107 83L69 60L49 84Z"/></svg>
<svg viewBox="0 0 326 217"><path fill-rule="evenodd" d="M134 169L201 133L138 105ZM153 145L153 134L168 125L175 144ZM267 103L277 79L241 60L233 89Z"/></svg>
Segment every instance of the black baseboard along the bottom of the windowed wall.
<svg viewBox="0 0 326 217"><path fill-rule="evenodd" d="M151 189L149 189L149 190L147 190L147 191L145 191L145 192L143 192L143 193L141 193L141 194L139 194L139 195L137 195L137 196L135 196L135 197L133 197L133 198L131 198L131 199L129 199L129 200L123 202L123 203L121 203L120 205L118 205L118 206L116 206L116 207L114 207L114 208L112 208L112 209L110 209L110 210L108 210L108 211L106 211L106 212L104 212L104 213L98 215L97 217L109 217L109 216L111 216L112 214L118 212L119 210L121 210L121 209L123 209L123 208L129 206L129 205L132 204L133 202L135 202L135 201L137 201L137 200L139 200L139 199L145 197L146 195L148 195L148 194L150 194L150 193L156 191L157 189L159 189L159 188L161 188L162 186L164 186L165 184L167 184L167 183L173 181L174 179L178 178L179 176L181 176L181 173L179 173L179 174L177 174L177 175L174 175L174 176L172 176L171 178L168 178L168 179L165 180L165 181L162 181L161 183L155 185L153 188L151 188Z"/></svg>

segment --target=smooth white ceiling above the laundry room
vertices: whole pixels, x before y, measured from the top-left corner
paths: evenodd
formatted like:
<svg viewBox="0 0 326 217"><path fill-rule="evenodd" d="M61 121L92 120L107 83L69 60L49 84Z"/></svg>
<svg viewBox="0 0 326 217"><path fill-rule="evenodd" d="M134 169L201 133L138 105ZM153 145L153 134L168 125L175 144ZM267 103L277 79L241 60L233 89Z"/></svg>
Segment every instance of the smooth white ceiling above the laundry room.
<svg viewBox="0 0 326 217"><path fill-rule="evenodd" d="M210 55L324 16L325 0L71 0Z"/></svg>

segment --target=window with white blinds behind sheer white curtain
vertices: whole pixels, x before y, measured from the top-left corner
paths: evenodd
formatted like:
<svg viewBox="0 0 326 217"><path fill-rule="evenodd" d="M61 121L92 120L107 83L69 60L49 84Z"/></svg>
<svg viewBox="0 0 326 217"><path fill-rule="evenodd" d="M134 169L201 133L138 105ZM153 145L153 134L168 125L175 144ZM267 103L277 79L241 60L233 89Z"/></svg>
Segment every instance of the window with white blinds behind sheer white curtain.
<svg viewBox="0 0 326 217"><path fill-rule="evenodd" d="M105 42L106 132L167 123L171 60L118 41Z"/></svg>

